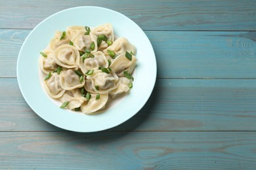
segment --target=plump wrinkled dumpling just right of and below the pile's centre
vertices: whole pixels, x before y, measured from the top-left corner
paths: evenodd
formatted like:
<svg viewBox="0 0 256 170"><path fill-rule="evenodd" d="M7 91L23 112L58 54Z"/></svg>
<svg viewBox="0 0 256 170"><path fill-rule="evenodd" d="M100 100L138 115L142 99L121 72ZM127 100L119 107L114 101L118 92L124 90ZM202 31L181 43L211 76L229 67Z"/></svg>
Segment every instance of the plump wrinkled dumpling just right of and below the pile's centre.
<svg viewBox="0 0 256 170"><path fill-rule="evenodd" d="M96 70L93 75L87 76L87 79L91 80L91 86L96 93L108 93L117 88L118 76L114 71L105 73L101 70Z"/></svg>

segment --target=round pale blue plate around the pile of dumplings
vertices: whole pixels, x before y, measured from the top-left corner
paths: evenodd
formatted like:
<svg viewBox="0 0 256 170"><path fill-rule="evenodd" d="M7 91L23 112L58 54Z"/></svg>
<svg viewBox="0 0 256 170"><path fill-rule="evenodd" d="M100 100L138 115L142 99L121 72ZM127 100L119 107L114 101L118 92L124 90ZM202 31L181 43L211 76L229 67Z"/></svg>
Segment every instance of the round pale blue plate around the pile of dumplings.
<svg viewBox="0 0 256 170"><path fill-rule="evenodd" d="M64 31L71 25L95 27L107 22L112 24L115 35L126 37L137 47L133 88L114 107L101 114L87 115L60 109L41 88L39 52L45 49L57 30ZM102 131L129 120L148 101L156 82L156 56L146 34L127 16L102 7L75 7L49 16L31 31L20 49L17 77L28 105L50 124L77 132Z"/></svg>

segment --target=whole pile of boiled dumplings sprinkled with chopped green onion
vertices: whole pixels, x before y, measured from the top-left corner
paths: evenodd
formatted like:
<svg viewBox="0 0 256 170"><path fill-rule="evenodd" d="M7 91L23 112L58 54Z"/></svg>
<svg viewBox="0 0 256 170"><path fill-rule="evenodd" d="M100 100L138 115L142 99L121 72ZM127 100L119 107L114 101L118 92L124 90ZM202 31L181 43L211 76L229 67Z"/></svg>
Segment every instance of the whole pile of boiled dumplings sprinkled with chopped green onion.
<svg viewBox="0 0 256 170"><path fill-rule="evenodd" d="M40 54L43 87L62 109L92 114L133 88L137 49L111 24L56 31Z"/></svg>

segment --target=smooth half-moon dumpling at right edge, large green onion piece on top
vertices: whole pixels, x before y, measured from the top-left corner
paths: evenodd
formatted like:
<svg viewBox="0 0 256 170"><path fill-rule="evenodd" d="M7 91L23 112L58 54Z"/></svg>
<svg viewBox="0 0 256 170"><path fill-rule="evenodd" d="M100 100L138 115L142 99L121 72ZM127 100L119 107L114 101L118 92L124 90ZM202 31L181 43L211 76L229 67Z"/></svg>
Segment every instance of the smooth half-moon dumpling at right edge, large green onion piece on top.
<svg viewBox="0 0 256 170"><path fill-rule="evenodd" d="M135 69L137 59L132 55L131 61L126 58L125 54L120 54L111 63L110 68L114 69L117 76L124 76L123 71L127 71L129 74L133 73Z"/></svg>

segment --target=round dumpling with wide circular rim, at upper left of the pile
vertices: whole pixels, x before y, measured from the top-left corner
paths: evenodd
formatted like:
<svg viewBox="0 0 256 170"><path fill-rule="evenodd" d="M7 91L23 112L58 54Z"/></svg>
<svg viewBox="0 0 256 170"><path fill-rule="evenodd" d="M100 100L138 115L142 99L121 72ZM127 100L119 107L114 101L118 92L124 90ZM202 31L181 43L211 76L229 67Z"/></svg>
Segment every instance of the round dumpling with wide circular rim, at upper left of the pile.
<svg viewBox="0 0 256 170"><path fill-rule="evenodd" d="M79 52L74 46L65 44L55 50L55 62L64 68L78 69L79 59Z"/></svg>

